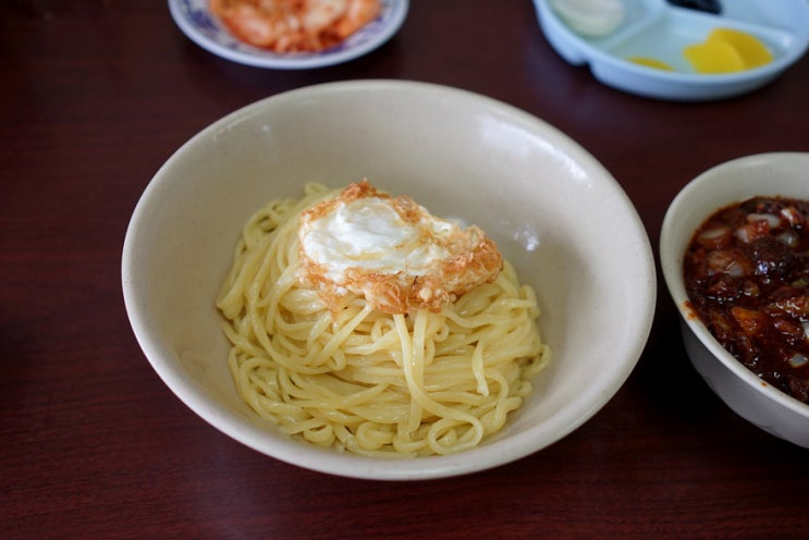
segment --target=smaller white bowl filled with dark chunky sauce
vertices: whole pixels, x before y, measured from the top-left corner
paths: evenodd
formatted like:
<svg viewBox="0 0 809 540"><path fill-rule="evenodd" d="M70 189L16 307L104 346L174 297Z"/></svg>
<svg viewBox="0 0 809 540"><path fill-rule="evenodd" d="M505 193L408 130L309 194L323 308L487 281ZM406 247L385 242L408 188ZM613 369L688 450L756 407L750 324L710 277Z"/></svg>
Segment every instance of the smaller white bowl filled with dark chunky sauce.
<svg viewBox="0 0 809 540"><path fill-rule="evenodd" d="M660 258L709 386L809 447L809 154L749 156L697 176L669 207Z"/></svg>

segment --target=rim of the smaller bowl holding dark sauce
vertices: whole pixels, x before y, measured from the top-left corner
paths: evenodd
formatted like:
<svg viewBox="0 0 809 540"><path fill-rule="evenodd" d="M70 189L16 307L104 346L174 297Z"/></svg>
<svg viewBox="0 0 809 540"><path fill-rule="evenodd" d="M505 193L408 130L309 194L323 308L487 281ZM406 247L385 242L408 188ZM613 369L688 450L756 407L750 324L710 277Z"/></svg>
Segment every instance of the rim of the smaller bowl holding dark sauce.
<svg viewBox="0 0 809 540"><path fill-rule="evenodd" d="M688 329L697 336L711 355L739 380L744 381L750 389L769 397L782 407L809 418L809 404L796 400L756 376L756 373L737 360L730 352L727 352L727 349L725 349L725 347L722 346L713 334L711 334L702 320L689 307L689 299L685 291L682 272L684 254L681 251L683 251L685 247L683 246L683 249L681 249L681 246L673 245L673 236L675 232L682 229L677 223L679 212L687 206L689 200L699 197L699 194L706 185L711 183L716 174L724 173L730 169L746 167L748 164L783 162L784 160L798 160L809 167L809 152L772 151L743 156L713 165L695 176L679 191L679 193L677 193L674 199L672 199L672 202L663 218L663 225L660 232L660 259L663 279L677 311L679 312L682 321L685 322ZM765 192L765 189L762 189L762 192ZM727 197L726 199L728 205L735 201L733 196ZM709 214L703 216L702 220L708 217Z"/></svg>

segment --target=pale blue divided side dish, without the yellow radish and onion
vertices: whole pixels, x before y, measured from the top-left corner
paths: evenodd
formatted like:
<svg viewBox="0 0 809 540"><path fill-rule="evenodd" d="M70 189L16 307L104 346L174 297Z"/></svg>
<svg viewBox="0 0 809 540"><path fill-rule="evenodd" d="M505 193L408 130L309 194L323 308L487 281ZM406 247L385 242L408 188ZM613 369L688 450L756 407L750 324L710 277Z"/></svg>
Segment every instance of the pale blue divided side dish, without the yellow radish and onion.
<svg viewBox="0 0 809 540"><path fill-rule="evenodd" d="M534 0L540 27L556 52L573 65L589 65L601 83L639 96L696 101L728 98L755 90L777 77L809 46L806 0L724 0L719 15L678 8L666 0L623 0L625 17L614 33L588 38L573 32L549 0ZM700 42L714 27L747 32L762 40L773 61L727 74L694 72L683 49ZM663 71L628 61L651 57L671 65Z"/></svg>

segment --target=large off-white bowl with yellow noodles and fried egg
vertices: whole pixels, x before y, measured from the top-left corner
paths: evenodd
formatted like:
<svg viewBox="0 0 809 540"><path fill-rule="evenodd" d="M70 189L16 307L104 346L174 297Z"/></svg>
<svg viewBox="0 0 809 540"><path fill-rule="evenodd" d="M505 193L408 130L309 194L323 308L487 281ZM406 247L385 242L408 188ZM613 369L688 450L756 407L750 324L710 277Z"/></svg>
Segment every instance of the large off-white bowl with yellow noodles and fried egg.
<svg viewBox="0 0 809 540"><path fill-rule="evenodd" d="M143 193L122 286L146 358L210 425L380 480L560 441L629 376L655 298L643 225L591 155L404 81L301 88L203 130Z"/></svg>

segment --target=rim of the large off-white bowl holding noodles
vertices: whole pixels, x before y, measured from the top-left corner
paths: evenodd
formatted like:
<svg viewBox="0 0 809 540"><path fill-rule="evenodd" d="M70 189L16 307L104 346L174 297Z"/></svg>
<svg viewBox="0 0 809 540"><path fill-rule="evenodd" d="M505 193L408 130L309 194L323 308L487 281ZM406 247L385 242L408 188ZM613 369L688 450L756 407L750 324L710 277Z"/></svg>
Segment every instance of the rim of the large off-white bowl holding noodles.
<svg viewBox="0 0 809 540"><path fill-rule="evenodd" d="M638 305L635 310L638 314L633 326L635 335L626 340L625 349L622 351L625 356L621 358L621 361L612 363L614 365L605 369L601 383L587 393L589 398L566 410L564 415L561 415L563 418L556 415L547 419L542 425L532 426L524 432L516 433L508 439L507 444L494 441L459 454L415 459L380 459L336 453L331 449L305 445L281 437L273 437L270 444L267 444L266 429L237 416L222 404L213 403L204 389L191 380L179 364L167 361L171 351L163 347L159 343L160 339L149 331L148 314L140 305L136 291L133 290L133 278L137 263L136 248L140 235L138 228L143 221L148 219L147 210L156 204L159 196L158 186L166 182L163 179L168 171L182 159L184 150L217 135L223 126L241 125L252 115L271 113L268 111L290 100L310 99L345 91L358 95L368 95L369 91L399 91L407 93L408 96L418 94L421 99L441 101L462 99L476 107L493 110L499 115L508 116L524 126L529 125L535 133L549 138L554 146L564 148L565 154L573 155L577 160L580 159L588 170L598 174L599 182L606 182L622 199L628 212L627 218L637 231L637 234L633 235L633 245L637 248L633 253L638 261L635 273L639 278L639 283L642 279L642 289L639 287L638 295L642 305ZM193 135L159 168L135 207L124 238L122 286L131 326L147 360L175 396L198 416L242 444L275 459L320 472L369 480L422 480L466 475L517 461L564 439L595 416L626 382L646 347L657 303L654 257L642 221L623 187L583 146L538 116L494 98L434 83L401 79L343 81L287 90L236 109ZM551 435L549 437L548 433Z"/></svg>

